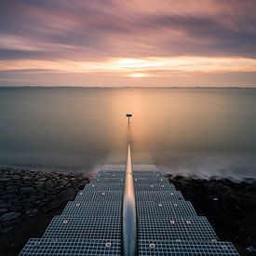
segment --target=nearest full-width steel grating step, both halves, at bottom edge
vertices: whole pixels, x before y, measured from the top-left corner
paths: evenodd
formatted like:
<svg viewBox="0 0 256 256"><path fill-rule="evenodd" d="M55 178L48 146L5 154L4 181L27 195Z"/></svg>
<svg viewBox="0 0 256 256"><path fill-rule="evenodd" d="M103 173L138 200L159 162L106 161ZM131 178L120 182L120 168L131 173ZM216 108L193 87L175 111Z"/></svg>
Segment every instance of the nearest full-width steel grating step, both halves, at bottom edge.
<svg viewBox="0 0 256 256"><path fill-rule="evenodd" d="M75 239L75 238L31 238L21 256L80 256L80 255L121 255L120 240ZM235 247L229 242L169 242L169 241L139 241L139 255L208 255L208 256L238 256Z"/></svg>

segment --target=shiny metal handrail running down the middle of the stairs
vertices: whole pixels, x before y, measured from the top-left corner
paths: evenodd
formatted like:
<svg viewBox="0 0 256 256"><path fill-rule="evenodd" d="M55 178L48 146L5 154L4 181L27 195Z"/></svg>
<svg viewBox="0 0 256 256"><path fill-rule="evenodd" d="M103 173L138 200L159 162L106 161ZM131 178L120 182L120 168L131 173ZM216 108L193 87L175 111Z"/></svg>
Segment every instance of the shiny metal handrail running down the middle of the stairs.
<svg viewBox="0 0 256 256"><path fill-rule="evenodd" d="M138 255L137 209L129 141L122 218L122 255Z"/></svg>

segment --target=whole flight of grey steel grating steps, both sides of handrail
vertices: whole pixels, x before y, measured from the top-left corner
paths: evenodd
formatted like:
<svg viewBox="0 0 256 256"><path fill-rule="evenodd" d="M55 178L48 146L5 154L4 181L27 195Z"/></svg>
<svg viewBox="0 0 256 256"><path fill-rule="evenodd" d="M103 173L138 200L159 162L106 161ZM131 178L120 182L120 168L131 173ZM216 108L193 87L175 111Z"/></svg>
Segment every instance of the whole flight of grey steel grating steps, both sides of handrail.
<svg viewBox="0 0 256 256"><path fill-rule="evenodd" d="M139 255L238 255L158 170L134 171ZM121 255L125 171L101 170L20 255Z"/></svg>

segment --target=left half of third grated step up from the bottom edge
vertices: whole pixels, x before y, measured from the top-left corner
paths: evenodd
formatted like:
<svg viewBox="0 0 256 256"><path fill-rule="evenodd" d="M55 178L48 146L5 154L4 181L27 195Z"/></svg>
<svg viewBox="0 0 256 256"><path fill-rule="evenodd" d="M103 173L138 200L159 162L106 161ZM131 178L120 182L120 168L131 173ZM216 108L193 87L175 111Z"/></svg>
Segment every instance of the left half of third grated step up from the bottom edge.
<svg viewBox="0 0 256 256"><path fill-rule="evenodd" d="M68 202L62 215L121 216L122 204L118 202Z"/></svg>

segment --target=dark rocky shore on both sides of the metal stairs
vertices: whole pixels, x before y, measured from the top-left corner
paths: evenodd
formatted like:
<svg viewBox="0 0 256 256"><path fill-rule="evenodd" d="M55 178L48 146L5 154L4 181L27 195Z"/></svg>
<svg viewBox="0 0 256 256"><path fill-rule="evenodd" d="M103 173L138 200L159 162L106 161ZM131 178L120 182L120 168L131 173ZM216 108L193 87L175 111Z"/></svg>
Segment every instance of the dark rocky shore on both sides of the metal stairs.
<svg viewBox="0 0 256 256"><path fill-rule="evenodd" d="M256 182L167 177L221 240L256 255ZM29 238L41 237L88 182L82 173L0 168L0 255L18 255Z"/></svg>

